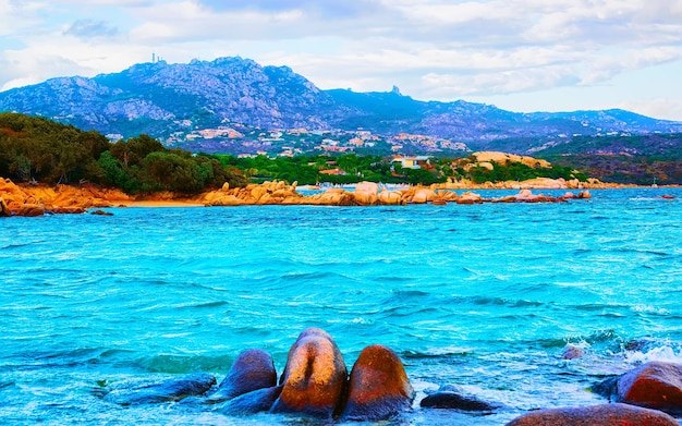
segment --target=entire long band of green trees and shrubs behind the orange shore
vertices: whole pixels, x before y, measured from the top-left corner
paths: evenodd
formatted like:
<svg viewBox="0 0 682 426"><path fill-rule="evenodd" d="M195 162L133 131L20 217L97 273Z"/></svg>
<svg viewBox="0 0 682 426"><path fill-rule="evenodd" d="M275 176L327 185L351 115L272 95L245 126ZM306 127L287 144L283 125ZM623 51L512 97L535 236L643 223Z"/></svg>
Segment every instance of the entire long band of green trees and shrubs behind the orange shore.
<svg viewBox="0 0 682 426"><path fill-rule="evenodd" d="M511 156L517 157L517 156ZM110 143L103 135L84 132L44 118L0 114L0 177L16 182L90 182L129 194L173 191L199 193L244 186L249 181L280 180L300 184L350 184L362 181L433 184L459 180L474 183L587 177L568 166L510 156L431 158L422 168L402 168L392 157L297 156L270 159L226 155L194 155L168 149L148 135ZM521 158L521 157L519 157ZM529 157L526 157L528 159Z"/></svg>

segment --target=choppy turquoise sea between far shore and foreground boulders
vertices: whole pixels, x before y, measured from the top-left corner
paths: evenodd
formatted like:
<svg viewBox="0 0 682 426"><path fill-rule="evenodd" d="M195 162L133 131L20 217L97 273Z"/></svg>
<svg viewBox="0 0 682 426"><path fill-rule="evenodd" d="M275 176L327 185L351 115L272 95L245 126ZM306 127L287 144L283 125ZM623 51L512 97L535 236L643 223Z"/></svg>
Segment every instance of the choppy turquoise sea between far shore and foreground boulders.
<svg viewBox="0 0 682 426"><path fill-rule="evenodd" d="M601 403L589 387L602 378L682 362L681 190L561 204L108 210L0 220L3 424L316 424L102 399L139 379L220 381L249 348L281 373L307 327L331 333L349 368L368 344L400 355L416 390L401 425L503 425ZM585 354L563 360L568 344ZM504 409L421 409L444 384Z"/></svg>

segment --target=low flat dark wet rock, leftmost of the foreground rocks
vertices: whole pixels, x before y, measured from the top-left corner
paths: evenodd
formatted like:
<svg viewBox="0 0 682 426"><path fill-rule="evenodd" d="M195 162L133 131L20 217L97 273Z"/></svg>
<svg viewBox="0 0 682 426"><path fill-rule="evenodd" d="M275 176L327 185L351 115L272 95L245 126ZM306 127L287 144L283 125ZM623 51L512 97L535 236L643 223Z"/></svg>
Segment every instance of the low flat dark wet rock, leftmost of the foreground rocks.
<svg viewBox="0 0 682 426"><path fill-rule="evenodd" d="M214 376L199 373L162 382L142 381L118 385L103 399L121 405L180 401L187 397L202 395L214 385L216 385Z"/></svg>

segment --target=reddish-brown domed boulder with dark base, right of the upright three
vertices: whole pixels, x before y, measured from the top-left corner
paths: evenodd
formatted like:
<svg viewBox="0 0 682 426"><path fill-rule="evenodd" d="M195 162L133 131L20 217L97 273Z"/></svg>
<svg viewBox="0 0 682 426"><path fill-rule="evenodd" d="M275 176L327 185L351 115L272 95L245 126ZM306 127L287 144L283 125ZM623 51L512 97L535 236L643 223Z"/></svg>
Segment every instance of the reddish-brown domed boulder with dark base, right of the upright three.
<svg viewBox="0 0 682 426"><path fill-rule="evenodd" d="M410 410L414 389L398 355L375 344L360 354L349 386L341 419L376 422Z"/></svg>

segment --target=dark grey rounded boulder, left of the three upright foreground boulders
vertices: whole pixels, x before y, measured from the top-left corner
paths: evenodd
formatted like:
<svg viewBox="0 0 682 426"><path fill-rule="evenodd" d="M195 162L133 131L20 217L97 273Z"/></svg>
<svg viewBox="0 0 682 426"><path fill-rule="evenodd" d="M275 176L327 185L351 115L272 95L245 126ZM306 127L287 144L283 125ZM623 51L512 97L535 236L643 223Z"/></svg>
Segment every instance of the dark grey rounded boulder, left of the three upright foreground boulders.
<svg viewBox="0 0 682 426"><path fill-rule="evenodd" d="M249 349L238 355L232 367L230 367L230 372L220 382L218 391L210 395L209 402L217 403L231 400L244 393L271 388L276 385L277 372L270 354L259 349Z"/></svg>

